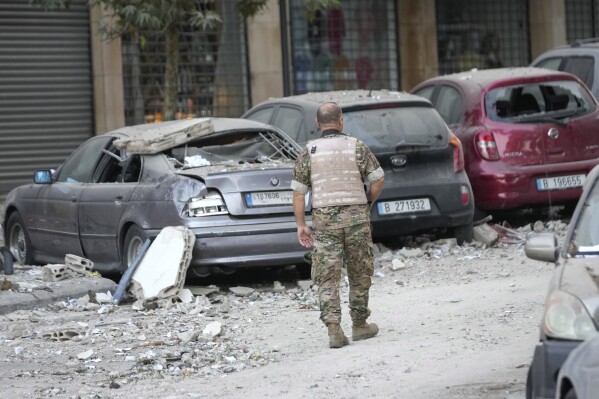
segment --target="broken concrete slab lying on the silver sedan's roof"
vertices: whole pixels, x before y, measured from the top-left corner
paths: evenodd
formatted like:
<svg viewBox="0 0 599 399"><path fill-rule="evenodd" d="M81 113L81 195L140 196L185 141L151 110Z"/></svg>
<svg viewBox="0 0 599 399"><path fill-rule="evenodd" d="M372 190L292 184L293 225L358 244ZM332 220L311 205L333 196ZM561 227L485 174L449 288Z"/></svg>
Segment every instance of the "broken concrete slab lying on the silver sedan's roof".
<svg viewBox="0 0 599 399"><path fill-rule="evenodd" d="M128 138L115 140L116 148L131 154L157 154L213 133L214 125L210 118L198 118L161 124L145 130L143 136L135 134L136 132L129 132L131 136Z"/></svg>

